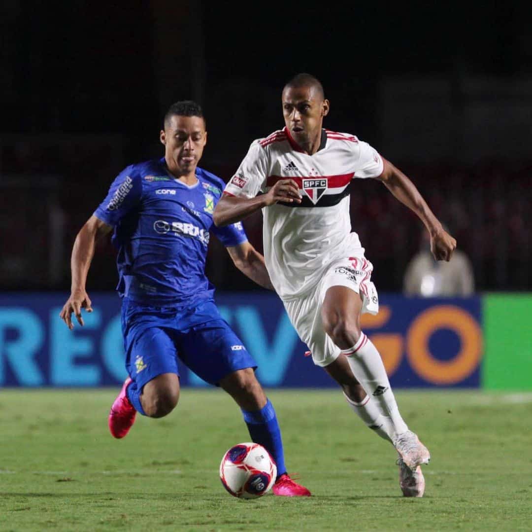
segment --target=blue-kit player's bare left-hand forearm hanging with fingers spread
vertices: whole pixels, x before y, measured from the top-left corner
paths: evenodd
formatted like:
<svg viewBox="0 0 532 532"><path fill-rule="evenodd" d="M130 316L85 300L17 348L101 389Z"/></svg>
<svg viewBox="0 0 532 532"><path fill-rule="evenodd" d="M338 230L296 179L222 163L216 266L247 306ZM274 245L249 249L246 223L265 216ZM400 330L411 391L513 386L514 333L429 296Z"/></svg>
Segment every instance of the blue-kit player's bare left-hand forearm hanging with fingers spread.
<svg viewBox="0 0 532 532"><path fill-rule="evenodd" d="M92 303L85 290L85 283L87 281L90 262L93 259L96 240L111 230L112 227L110 225L107 225L93 215L81 227L81 230L76 236L76 241L74 241L74 247L72 248L72 257L70 259L70 268L72 271L71 293L59 314L69 329L74 328L72 313L76 316L78 323L83 325L81 309L85 308L87 312L93 312Z"/></svg>

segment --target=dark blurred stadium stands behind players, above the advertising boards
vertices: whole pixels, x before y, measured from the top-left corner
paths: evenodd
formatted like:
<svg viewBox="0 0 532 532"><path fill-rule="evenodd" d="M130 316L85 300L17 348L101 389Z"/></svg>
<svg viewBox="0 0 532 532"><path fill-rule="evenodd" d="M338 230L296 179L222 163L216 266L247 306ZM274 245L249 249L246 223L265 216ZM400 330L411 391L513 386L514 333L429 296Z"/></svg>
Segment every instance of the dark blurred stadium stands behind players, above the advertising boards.
<svg viewBox="0 0 532 532"><path fill-rule="evenodd" d="M227 181L282 127L281 88L306 71L331 101L326 126L412 178L477 290L530 290L530 4L335 5L2 2L0 289L69 289L77 231L124 166L162 155L170 103L203 105L201 166ZM377 287L400 291L421 224L377 182L357 183L351 208ZM261 248L260 216L246 228ZM219 289L254 288L214 239L209 255ZM115 280L103 242L89 293Z"/></svg>

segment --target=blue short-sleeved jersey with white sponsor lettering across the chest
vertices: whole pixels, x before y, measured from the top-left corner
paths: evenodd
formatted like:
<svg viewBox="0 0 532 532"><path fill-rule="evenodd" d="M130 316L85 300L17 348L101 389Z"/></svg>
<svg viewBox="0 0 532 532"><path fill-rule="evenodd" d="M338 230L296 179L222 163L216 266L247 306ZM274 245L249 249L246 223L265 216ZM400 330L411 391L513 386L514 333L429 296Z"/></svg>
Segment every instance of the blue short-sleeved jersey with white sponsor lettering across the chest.
<svg viewBox="0 0 532 532"><path fill-rule="evenodd" d="M216 227L212 213L223 181L196 168L188 186L164 158L128 166L114 180L94 215L114 227L121 297L159 306L212 299L205 276L210 231L227 247L247 240L242 224Z"/></svg>

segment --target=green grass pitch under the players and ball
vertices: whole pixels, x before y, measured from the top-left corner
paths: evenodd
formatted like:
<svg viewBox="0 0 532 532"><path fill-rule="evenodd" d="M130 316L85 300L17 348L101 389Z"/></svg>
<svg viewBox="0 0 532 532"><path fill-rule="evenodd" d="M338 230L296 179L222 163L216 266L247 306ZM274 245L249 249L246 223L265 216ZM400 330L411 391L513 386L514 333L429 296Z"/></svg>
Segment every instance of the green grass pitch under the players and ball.
<svg viewBox="0 0 532 532"><path fill-rule="evenodd" d="M218 467L249 439L222 391L114 440L117 389L0 391L0 530L531 530L532 394L398 391L429 447L422 499L334 390L270 390L289 471L313 496L237 500Z"/></svg>

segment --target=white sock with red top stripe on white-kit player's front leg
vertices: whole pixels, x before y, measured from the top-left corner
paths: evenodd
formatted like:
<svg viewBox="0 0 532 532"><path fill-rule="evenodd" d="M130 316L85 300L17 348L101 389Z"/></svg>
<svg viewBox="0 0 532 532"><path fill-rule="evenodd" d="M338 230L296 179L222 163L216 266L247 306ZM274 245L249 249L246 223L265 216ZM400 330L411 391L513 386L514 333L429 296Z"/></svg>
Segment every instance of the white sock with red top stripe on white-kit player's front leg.
<svg viewBox="0 0 532 532"><path fill-rule="evenodd" d="M342 349L340 352L347 356L347 362L356 380L362 384L365 392L375 399L381 412L389 419L392 439L406 432L408 427L399 413L383 360L371 340L362 333L353 347Z"/></svg>

